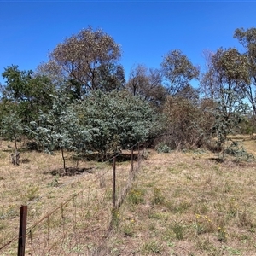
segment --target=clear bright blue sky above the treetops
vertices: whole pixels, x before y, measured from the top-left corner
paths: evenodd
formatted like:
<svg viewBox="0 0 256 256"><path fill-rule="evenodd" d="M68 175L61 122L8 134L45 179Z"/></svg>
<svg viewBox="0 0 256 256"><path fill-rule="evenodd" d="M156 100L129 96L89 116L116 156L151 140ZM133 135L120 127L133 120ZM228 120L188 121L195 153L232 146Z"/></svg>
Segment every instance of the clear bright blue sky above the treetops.
<svg viewBox="0 0 256 256"><path fill-rule="evenodd" d="M57 44L88 26L121 45L126 79L137 64L160 68L173 49L203 69L206 49L243 50L233 34L256 27L255 11L256 1L0 0L0 74L13 64L35 70Z"/></svg>

